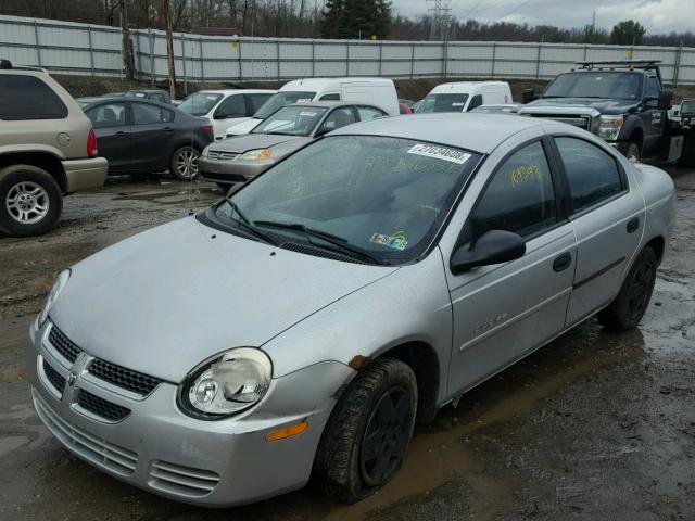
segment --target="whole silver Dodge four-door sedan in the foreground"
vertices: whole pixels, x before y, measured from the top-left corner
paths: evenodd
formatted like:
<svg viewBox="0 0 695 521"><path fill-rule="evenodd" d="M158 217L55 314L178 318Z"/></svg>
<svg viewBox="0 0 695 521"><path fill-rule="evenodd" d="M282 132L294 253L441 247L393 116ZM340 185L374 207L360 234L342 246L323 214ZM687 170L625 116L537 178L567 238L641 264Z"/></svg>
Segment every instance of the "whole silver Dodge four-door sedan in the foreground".
<svg viewBox="0 0 695 521"><path fill-rule="evenodd" d="M34 406L67 450L173 499L313 476L356 501L415 421L596 313L636 327L674 201L666 173L556 122L343 127L63 271L30 326Z"/></svg>

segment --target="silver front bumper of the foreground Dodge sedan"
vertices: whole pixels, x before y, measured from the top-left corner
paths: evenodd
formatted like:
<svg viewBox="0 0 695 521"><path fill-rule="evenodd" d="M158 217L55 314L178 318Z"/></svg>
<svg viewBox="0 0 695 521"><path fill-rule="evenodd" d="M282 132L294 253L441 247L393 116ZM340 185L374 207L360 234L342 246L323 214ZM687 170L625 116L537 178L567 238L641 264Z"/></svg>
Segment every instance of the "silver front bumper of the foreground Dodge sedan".
<svg viewBox="0 0 695 521"><path fill-rule="evenodd" d="M26 360L34 406L48 430L71 453L119 480L207 507L252 503L304 486L334 396L354 374L340 363L316 364L274 380L248 412L198 420L178 409L175 383L162 382L148 396L132 397L88 373L81 355L71 364L51 344L50 327L39 330L33 323ZM62 391L51 383L56 373L65 379ZM81 392L130 412L109 421L81 409L76 398ZM268 432L302 420L309 425L304 433L266 441Z"/></svg>

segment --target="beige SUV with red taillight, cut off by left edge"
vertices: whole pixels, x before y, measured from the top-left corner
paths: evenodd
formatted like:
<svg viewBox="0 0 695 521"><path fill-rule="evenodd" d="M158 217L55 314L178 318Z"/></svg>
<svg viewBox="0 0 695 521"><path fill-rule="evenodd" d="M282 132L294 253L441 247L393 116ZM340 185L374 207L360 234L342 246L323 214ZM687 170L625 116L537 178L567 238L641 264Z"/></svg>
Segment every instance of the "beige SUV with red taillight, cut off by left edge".
<svg viewBox="0 0 695 521"><path fill-rule="evenodd" d="M91 123L48 73L0 60L0 231L38 236L51 230L63 195L101 187Z"/></svg>

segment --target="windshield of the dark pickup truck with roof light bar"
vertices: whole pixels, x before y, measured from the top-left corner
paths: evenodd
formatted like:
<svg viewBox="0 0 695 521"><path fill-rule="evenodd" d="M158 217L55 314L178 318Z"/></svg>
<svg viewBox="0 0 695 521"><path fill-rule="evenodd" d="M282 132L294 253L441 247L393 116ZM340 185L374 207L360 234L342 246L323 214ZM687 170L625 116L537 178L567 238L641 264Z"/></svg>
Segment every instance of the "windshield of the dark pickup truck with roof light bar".
<svg viewBox="0 0 695 521"><path fill-rule="evenodd" d="M579 72L557 76L542 98L608 98L636 100L642 89L642 74L620 72Z"/></svg>

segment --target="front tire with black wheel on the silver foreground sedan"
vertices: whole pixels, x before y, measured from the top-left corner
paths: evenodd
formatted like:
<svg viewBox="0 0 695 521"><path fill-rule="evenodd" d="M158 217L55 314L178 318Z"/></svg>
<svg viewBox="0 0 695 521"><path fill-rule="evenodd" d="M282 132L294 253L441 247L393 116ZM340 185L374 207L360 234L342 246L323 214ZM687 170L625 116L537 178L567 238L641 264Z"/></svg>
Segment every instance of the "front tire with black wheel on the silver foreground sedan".
<svg viewBox="0 0 695 521"><path fill-rule="evenodd" d="M334 500L353 504L386 485L401 469L415 414L413 370L380 358L350 383L324 429L313 480Z"/></svg>

